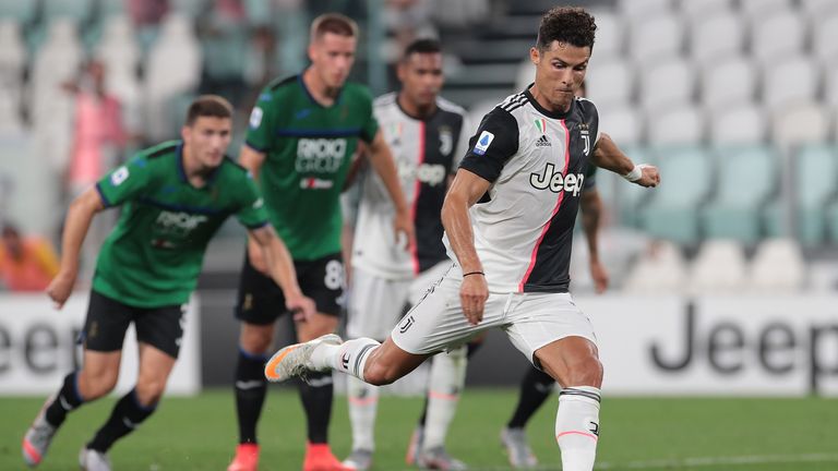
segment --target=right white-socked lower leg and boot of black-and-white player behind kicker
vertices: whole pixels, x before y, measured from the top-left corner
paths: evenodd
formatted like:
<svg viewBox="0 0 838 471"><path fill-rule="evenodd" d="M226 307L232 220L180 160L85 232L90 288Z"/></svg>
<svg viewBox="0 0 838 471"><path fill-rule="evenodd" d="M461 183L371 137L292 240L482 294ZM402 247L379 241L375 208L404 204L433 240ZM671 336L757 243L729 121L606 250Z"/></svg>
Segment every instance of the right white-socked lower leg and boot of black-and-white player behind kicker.
<svg viewBox="0 0 838 471"><path fill-rule="evenodd" d="M418 463L431 469L465 469L465 464L445 451L445 436L457 410L459 394L466 383L465 346L431 360L428 386L428 413Z"/></svg>

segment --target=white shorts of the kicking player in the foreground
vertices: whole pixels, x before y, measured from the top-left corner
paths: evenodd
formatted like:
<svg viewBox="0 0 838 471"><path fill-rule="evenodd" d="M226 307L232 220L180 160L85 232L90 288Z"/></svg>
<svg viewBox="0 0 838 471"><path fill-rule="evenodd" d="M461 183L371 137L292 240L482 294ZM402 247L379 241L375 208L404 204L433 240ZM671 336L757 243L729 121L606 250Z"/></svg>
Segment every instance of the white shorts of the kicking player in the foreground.
<svg viewBox="0 0 838 471"><path fill-rule="evenodd" d="M499 327L506 331L515 348L534 362L536 350L565 337L583 337L597 343L590 319L570 293L490 293L483 319L472 326L463 315L462 282L459 267L453 267L434 283L391 333L396 346L408 353L435 353L452 350L483 330Z"/></svg>

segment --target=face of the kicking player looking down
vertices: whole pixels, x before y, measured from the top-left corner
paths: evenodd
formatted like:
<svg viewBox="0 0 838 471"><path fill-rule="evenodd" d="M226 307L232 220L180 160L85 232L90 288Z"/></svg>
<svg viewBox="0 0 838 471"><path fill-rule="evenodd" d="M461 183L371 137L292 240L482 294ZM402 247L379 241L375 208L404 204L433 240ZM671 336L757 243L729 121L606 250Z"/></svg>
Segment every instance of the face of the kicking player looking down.
<svg viewBox="0 0 838 471"><path fill-rule="evenodd" d="M529 50L536 64L536 88L540 98L554 111L566 111L585 80L590 59L589 47L553 41L550 48Z"/></svg>

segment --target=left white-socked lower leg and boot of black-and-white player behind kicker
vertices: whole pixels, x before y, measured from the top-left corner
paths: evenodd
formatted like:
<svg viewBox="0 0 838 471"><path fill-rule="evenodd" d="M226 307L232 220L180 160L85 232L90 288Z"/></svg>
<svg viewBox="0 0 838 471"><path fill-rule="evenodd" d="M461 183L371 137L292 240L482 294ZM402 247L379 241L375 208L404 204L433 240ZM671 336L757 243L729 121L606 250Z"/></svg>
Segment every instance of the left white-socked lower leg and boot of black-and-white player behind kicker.
<svg viewBox="0 0 838 471"><path fill-rule="evenodd" d="M352 425L352 452L344 460L344 466L357 471L368 470L372 466L372 452L375 450L379 388L349 376L346 381L346 391Z"/></svg>

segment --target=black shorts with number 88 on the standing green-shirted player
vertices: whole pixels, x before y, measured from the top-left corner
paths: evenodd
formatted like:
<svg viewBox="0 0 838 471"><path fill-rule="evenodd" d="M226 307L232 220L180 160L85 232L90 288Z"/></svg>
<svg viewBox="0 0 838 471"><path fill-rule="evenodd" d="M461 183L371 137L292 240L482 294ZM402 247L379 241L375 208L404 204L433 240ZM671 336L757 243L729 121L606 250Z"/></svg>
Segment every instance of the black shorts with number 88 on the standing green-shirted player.
<svg viewBox="0 0 838 471"><path fill-rule="evenodd" d="M236 318L248 324L273 324L288 312L283 290L271 277L253 268L247 251L243 265L236 300ZM314 300L318 312L339 316L344 297L343 256L336 253L315 261L295 261L294 267L302 293Z"/></svg>

